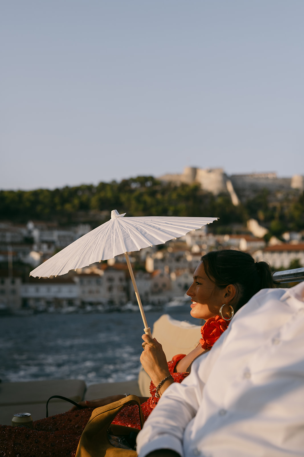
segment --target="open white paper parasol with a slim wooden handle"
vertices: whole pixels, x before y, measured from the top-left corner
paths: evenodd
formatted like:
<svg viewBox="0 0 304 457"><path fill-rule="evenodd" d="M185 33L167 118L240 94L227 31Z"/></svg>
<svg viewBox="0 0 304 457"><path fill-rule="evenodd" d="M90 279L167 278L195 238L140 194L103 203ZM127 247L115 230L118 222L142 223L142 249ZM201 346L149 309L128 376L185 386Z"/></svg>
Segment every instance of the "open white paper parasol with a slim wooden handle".
<svg viewBox="0 0 304 457"><path fill-rule="evenodd" d="M113 259L124 254L133 282L135 295L144 321L144 331L149 335L144 310L139 297L128 252L138 251L154 244L163 244L169 239L179 238L191 230L212 223L217 218L183 218L183 217L129 217L114 209L108 222L94 228L91 232L69 244L62 251L46 260L30 276L64 275L100 260Z"/></svg>

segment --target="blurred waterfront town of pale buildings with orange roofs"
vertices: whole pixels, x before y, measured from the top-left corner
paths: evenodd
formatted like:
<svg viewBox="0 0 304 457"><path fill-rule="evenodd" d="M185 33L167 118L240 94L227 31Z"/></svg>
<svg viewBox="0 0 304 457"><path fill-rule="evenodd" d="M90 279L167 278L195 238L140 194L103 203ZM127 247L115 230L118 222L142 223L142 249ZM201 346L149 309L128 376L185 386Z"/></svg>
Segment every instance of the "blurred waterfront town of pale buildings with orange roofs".
<svg viewBox="0 0 304 457"><path fill-rule="evenodd" d="M136 298L124 255L56 278L38 279L23 275L21 279L21 274L15 275L15 265L19 265L21 271L25 268L30 271L87 233L89 228L84 224L59 229L52 223L30 221L23 226L1 223L0 262L2 268L6 265L6 273L0 271L0 314L1 309L12 312L103 312L127 309L127 303L131 309ZM157 307L183 297L201 256L211 250L249 252L256 261L266 261L274 270L288 269L290 265L304 266L303 232L285 232L279 238L272 236L268 239L265 236L268 230L254 219L248 221L247 227L237 230L240 233L215 234L208 232L205 226L179 239L130 253L143 304Z"/></svg>

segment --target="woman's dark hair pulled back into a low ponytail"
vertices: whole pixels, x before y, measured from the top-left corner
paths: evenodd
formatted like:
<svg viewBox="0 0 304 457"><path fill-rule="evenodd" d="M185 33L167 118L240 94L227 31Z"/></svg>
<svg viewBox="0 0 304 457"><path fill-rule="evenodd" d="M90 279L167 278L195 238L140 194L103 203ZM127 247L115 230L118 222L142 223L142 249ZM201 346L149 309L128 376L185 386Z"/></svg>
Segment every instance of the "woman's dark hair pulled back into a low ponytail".
<svg viewBox="0 0 304 457"><path fill-rule="evenodd" d="M201 262L206 275L224 288L233 284L237 293L232 303L237 311L261 289L274 287L270 267L266 262L255 262L252 255L236 250L210 251L203 255Z"/></svg>

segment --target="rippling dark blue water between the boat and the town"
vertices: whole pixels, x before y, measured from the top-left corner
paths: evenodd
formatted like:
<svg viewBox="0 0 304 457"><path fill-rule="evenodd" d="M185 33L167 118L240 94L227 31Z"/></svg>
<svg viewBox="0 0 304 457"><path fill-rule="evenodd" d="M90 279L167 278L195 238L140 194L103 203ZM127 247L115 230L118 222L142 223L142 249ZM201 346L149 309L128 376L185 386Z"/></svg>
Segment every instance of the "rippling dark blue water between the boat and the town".
<svg viewBox="0 0 304 457"><path fill-rule="evenodd" d="M161 314L146 313L151 328ZM172 317L199 324L187 311ZM139 313L1 317L0 379L87 384L136 379L143 328Z"/></svg>

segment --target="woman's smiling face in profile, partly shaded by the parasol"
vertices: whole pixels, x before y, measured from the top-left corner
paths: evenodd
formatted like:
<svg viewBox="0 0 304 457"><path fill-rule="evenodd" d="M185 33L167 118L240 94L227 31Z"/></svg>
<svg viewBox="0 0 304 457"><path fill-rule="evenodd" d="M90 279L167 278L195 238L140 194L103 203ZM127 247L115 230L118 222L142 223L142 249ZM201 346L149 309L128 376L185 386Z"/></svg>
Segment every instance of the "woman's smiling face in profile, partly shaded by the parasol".
<svg viewBox="0 0 304 457"><path fill-rule="evenodd" d="M193 282L187 290L191 297L191 316L196 319L210 319L220 314L220 308L225 303L225 290L219 289L208 278L204 264L200 262L193 275Z"/></svg>

